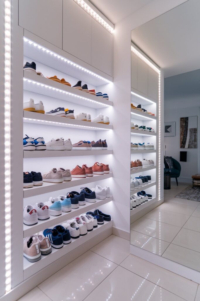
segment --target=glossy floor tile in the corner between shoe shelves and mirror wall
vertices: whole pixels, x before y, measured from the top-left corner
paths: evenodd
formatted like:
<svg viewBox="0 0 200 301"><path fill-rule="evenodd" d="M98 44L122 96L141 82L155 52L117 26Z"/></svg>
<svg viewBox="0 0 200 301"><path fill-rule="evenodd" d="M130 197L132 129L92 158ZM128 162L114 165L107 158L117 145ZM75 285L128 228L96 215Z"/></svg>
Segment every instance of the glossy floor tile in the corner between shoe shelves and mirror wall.
<svg viewBox="0 0 200 301"><path fill-rule="evenodd" d="M111 235L91 248L91 251L120 264L130 254L130 241Z"/></svg>

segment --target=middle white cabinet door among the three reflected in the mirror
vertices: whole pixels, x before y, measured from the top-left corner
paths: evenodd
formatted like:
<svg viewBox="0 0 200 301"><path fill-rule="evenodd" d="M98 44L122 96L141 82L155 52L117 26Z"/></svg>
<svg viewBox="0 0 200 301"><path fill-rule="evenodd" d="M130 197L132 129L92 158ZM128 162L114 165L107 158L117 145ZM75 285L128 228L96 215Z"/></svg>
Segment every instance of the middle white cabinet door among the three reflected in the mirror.
<svg viewBox="0 0 200 301"><path fill-rule="evenodd" d="M148 95L148 65L138 58L138 91Z"/></svg>

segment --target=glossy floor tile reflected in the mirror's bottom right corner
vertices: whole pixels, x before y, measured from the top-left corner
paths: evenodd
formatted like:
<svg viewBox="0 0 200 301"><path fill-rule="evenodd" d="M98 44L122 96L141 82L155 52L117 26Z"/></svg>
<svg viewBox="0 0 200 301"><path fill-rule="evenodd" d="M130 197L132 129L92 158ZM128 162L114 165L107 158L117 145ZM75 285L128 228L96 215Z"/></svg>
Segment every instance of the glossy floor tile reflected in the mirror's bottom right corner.
<svg viewBox="0 0 200 301"><path fill-rule="evenodd" d="M162 256L200 272L199 252L170 244Z"/></svg>

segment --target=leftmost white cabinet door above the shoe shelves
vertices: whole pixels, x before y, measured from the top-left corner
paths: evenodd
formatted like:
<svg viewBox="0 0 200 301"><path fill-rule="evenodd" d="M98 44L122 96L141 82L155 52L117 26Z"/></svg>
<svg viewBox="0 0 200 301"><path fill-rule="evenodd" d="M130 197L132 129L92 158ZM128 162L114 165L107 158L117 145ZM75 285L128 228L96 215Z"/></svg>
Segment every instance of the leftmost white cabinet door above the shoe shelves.
<svg viewBox="0 0 200 301"><path fill-rule="evenodd" d="M62 48L62 0L19 0L19 26Z"/></svg>

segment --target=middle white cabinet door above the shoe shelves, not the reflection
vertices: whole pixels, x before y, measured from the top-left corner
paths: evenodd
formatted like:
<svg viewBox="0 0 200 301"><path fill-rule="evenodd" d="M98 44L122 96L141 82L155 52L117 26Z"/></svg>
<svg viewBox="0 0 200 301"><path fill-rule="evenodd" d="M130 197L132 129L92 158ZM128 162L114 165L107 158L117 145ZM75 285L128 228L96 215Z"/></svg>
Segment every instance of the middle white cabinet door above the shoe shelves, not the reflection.
<svg viewBox="0 0 200 301"><path fill-rule="evenodd" d="M73 0L63 0L63 50L91 64L91 19Z"/></svg>

